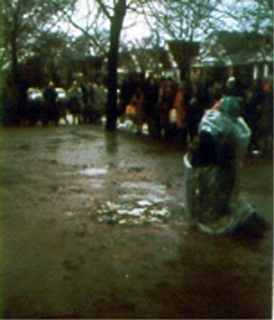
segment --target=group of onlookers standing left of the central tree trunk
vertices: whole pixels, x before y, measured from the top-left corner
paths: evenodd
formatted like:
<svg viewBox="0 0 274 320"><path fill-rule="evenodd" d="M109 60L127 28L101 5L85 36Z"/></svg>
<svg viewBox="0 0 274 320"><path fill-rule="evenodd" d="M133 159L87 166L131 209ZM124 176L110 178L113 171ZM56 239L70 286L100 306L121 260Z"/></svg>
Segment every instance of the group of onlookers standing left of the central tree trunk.
<svg viewBox="0 0 274 320"><path fill-rule="evenodd" d="M106 89L101 83L75 80L64 90L50 81L38 99L29 97L23 119L32 124L40 120L43 125L57 125L60 120L68 123L68 115L71 115L73 124L97 123L105 112L105 102Z"/></svg>

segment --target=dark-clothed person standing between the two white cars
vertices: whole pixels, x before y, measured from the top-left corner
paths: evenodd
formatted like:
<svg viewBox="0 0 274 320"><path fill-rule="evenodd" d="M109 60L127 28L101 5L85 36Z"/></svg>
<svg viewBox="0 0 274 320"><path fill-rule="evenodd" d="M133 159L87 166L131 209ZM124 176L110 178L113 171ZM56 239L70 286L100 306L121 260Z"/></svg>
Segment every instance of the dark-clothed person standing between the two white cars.
<svg viewBox="0 0 274 320"><path fill-rule="evenodd" d="M57 112L57 92L52 81L43 90L43 108L42 108L42 123L48 125L55 119L54 115Z"/></svg>

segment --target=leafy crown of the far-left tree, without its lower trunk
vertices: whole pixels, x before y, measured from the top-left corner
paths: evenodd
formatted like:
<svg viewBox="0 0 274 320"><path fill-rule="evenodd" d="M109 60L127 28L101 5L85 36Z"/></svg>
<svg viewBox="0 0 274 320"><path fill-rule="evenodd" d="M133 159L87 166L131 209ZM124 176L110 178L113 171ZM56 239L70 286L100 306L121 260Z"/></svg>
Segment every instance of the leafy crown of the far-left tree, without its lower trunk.
<svg viewBox="0 0 274 320"><path fill-rule="evenodd" d="M1 2L1 35L12 75L18 78L18 63L29 44L42 30L50 30L60 19L61 9L74 4L74 0L3 0Z"/></svg>

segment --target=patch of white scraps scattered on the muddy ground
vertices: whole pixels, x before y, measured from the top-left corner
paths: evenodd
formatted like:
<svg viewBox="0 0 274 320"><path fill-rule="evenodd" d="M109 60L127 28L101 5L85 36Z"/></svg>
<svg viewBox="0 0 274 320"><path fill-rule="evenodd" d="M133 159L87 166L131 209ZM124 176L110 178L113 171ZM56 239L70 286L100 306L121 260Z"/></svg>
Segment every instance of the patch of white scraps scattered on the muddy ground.
<svg viewBox="0 0 274 320"><path fill-rule="evenodd" d="M170 211L162 203L138 200L130 203L107 201L96 208L98 221L120 226L138 226L145 223L167 223Z"/></svg>

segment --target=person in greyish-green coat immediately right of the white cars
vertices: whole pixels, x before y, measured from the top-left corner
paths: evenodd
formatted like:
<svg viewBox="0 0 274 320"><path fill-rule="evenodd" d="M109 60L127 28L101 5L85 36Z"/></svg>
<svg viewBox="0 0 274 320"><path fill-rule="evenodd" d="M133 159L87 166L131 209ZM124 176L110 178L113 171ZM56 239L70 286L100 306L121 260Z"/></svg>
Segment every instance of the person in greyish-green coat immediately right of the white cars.
<svg viewBox="0 0 274 320"><path fill-rule="evenodd" d="M68 109L72 115L73 124L80 123L83 93L77 81L74 81L72 86L68 89Z"/></svg>

